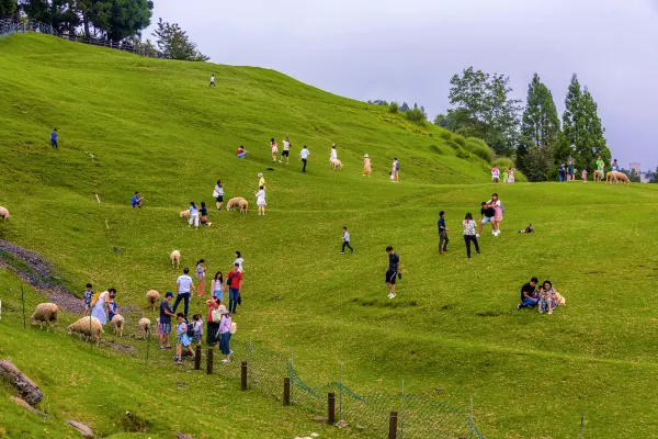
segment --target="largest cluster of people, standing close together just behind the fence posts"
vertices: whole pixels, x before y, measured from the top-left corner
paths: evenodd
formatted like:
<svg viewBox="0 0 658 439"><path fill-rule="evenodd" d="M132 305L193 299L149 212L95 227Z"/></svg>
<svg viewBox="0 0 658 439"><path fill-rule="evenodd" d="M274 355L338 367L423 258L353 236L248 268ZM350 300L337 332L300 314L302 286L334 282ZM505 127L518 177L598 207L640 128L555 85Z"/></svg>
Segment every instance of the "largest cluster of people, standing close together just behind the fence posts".
<svg viewBox="0 0 658 439"><path fill-rule="evenodd" d="M182 364L183 352L194 357L192 344L202 345L203 335L206 334L206 344L211 346L219 346L219 351L226 356L224 362L230 361L232 350L230 349L230 337L236 334L237 325L232 322L231 315L237 314L238 305L242 304L242 255L236 251L236 259L232 263L232 269L224 281L224 273L217 271L211 282L211 296L205 301L207 306L207 320L204 331L203 318L201 314L192 316L192 322L188 319L190 311L190 302L192 292L196 291L198 297L205 296L206 290L206 270L205 260L201 259L196 263L196 286L194 280L190 277L190 269L184 268L183 274L177 279L177 296L174 301L173 293L168 291L164 300L160 303L160 316L158 323L158 338L160 349L172 349L170 342L170 334L172 331L171 318L178 320L177 325L177 353L173 357L178 364ZM228 293L228 307L225 305L225 293ZM173 307L171 302L173 301ZM177 313L179 305L183 303L183 312Z"/></svg>

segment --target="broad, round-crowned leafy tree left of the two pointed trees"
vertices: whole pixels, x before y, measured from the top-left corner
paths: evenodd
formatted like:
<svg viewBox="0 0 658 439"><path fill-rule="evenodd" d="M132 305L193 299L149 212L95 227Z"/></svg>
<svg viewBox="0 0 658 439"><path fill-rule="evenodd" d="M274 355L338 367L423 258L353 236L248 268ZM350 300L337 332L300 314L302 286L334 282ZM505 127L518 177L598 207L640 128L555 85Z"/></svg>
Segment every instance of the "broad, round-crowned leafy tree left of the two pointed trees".
<svg viewBox="0 0 658 439"><path fill-rule="evenodd" d="M450 101L461 110L458 128L470 127L498 155L510 156L518 143L520 101L509 98L509 77L475 71L473 67L451 79ZM449 113L451 110L449 110ZM464 117L466 116L466 117ZM456 119L456 117L455 117Z"/></svg>

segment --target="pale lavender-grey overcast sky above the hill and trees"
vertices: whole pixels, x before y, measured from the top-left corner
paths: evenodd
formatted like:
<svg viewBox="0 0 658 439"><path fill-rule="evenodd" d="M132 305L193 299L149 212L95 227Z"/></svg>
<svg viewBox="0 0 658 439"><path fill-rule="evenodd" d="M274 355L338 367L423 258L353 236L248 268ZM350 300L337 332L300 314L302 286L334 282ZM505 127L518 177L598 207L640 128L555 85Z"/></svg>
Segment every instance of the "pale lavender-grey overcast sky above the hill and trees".
<svg viewBox="0 0 658 439"><path fill-rule="evenodd" d="M214 63L280 70L359 100L450 108L454 74L536 71L558 110L574 72L624 167L658 165L658 0L155 0ZM149 32L150 34L150 32Z"/></svg>

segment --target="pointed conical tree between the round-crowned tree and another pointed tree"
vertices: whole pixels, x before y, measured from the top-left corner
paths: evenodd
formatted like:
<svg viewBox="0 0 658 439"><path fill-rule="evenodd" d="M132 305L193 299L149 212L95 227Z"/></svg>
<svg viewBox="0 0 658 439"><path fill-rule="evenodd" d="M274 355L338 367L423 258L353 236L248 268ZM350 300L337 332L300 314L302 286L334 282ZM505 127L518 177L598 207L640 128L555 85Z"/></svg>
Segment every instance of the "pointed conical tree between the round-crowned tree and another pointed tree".
<svg viewBox="0 0 658 439"><path fill-rule="evenodd" d="M525 164L536 162L535 159L524 160L529 148L533 145L540 148L555 146L559 131L559 117L553 94L540 80L540 76L534 74L532 82L527 86L527 99L521 119L521 142L517 148L517 165L526 176L529 172L524 169ZM542 156L544 157L545 154ZM547 171L548 168L545 170Z"/></svg>

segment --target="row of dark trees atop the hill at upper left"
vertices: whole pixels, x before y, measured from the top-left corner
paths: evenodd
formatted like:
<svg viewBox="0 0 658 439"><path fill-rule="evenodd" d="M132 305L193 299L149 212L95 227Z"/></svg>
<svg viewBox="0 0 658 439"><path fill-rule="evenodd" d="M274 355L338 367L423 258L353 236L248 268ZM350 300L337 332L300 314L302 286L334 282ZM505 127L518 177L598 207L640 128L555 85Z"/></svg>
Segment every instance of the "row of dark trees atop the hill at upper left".
<svg viewBox="0 0 658 439"><path fill-rule="evenodd" d="M59 34L135 44L151 24L151 0L0 0L0 19L36 20ZM145 45L170 59L206 61L178 23L158 22L155 44ZM156 50L156 46L157 49Z"/></svg>

